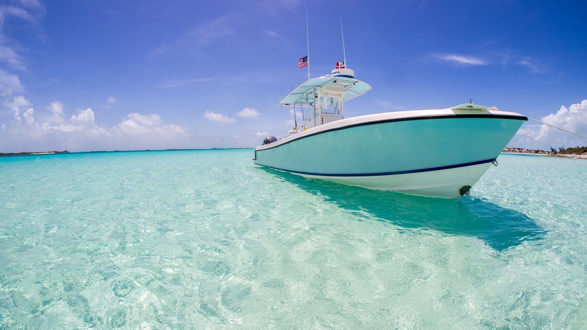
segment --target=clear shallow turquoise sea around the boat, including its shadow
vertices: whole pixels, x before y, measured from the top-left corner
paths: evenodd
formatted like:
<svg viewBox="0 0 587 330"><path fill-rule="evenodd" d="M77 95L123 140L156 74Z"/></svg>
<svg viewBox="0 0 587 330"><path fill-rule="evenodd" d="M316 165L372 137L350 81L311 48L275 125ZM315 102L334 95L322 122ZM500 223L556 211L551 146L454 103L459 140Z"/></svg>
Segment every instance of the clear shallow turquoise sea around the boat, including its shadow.
<svg viewBox="0 0 587 330"><path fill-rule="evenodd" d="M587 160L501 155L449 200L252 157L0 159L0 328L586 327Z"/></svg>

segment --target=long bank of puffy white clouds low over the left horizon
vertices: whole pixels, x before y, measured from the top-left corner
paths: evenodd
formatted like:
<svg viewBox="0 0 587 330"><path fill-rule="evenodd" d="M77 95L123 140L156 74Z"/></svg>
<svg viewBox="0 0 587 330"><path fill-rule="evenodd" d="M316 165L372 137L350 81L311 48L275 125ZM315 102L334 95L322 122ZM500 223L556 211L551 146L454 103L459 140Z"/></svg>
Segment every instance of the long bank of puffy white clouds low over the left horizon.
<svg viewBox="0 0 587 330"><path fill-rule="evenodd" d="M7 105L30 105L21 97L13 97ZM143 115L129 113L122 121L111 128L98 126L92 109L78 109L69 120L64 117L63 106L59 101L51 102L45 109L50 115L43 123L33 118L33 108L22 112L26 125L13 123L4 126L0 140L6 147L15 151L31 151L35 148L47 150L132 150L132 149L167 149L186 146L187 129L174 124L163 124L157 114ZM42 118L41 113L41 118ZM43 124L41 124L43 123ZM34 151L34 150L33 150Z"/></svg>

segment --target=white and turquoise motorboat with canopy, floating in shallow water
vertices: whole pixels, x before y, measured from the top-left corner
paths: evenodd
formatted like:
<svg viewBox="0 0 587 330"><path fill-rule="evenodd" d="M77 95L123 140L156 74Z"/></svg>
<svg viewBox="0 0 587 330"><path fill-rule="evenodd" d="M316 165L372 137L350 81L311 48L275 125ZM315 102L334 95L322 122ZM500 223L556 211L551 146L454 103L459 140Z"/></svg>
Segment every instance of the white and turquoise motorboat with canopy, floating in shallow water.
<svg viewBox="0 0 587 330"><path fill-rule="evenodd" d="M370 89L350 69L309 79L278 103L302 107L302 129L266 138L255 164L351 186L459 198L497 165L528 120L474 103L345 118L343 103Z"/></svg>

